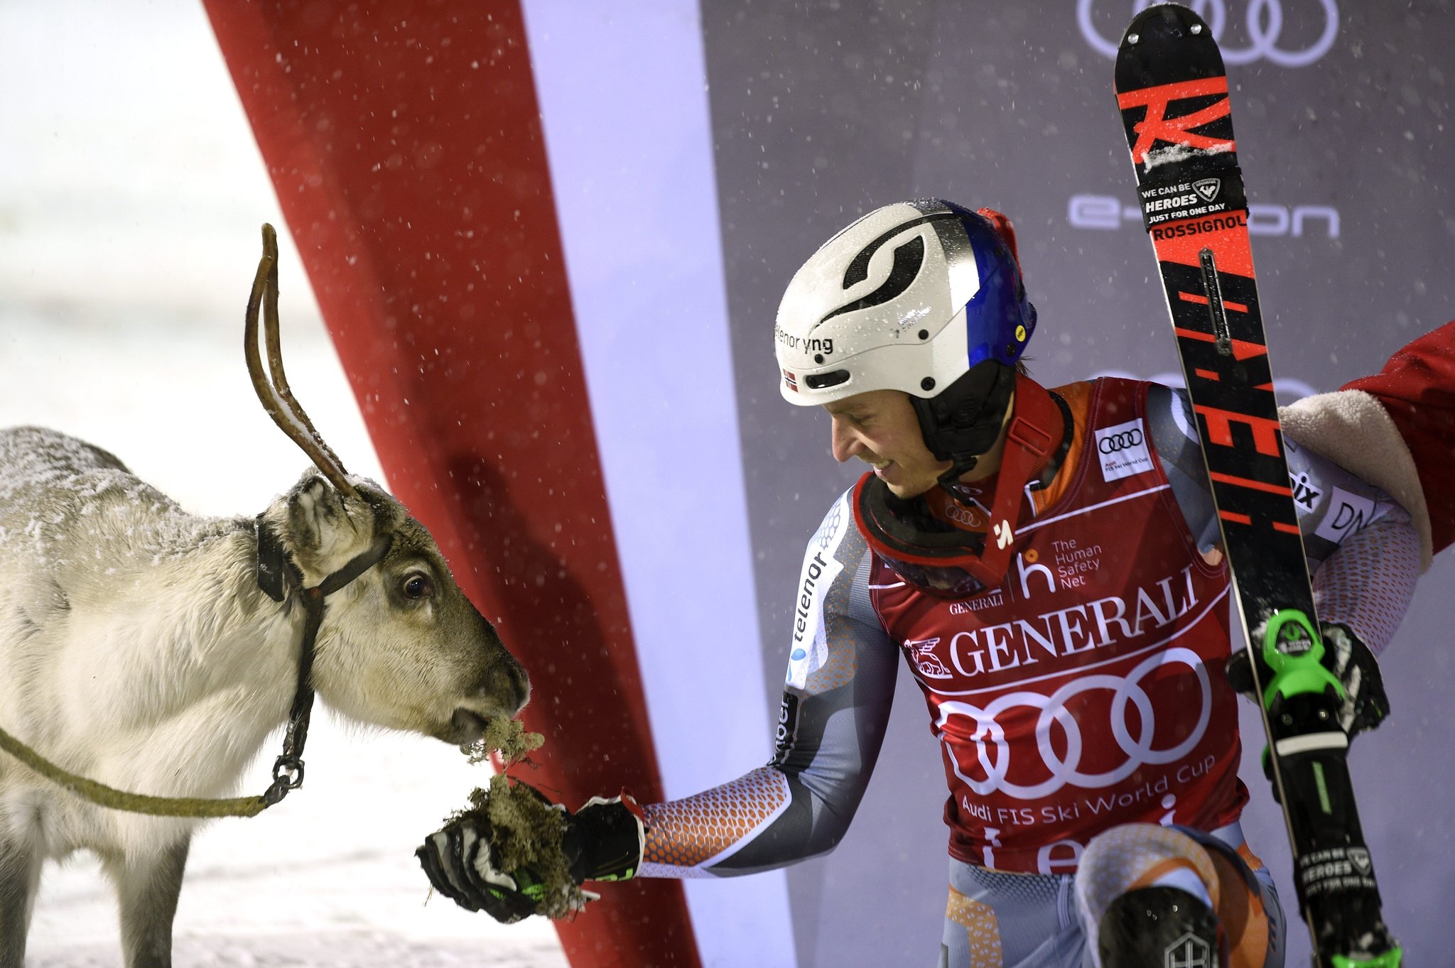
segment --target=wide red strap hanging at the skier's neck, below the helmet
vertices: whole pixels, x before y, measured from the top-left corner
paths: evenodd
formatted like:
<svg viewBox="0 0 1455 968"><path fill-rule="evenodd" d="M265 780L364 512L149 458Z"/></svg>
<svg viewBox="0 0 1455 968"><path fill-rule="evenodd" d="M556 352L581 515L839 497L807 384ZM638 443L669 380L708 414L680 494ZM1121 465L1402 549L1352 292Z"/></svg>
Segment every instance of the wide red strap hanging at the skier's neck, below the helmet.
<svg viewBox="0 0 1455 968"><path fill-rule="evenodd" d="M1005 449L1001 452L995 497L991 501L989 529L985 533L985 548L978 557L969 557L966 568L988 589L994 589L1005 577L1010 552L1016 542L1014 522L1020 517L1021 493L1026 484L1046 467L1052 451L1061 442L1065 426L1061 410L1051 394L1033 379L1016 374L1014 416L1005 430ZM963 485L956 468L962 461L940 477L941 487L957 499ZM976 458L969 461L973 468ZM946 477L954 475L946 481Z"/></svg>

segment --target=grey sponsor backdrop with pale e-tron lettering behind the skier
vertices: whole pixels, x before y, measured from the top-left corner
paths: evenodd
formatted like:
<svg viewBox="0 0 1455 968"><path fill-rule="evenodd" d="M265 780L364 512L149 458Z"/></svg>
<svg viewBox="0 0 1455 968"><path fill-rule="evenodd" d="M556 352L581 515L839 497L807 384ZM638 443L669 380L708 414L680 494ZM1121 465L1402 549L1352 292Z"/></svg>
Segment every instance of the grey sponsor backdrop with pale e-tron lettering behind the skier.
<svg viewBox="0 0 1455 968"><path fill-rule="evenodd" d="M1135 9L1126 0L704 0L764 689L774 705L803 541L858 474L829 458L826 419L790 410L776 388L777 299L819 243L904 198L1000 208L1018 228L1040 310L1030 355L1042 382L1176 372L1151 247L1123 212L1132 172L1112 61L1099 49ZM1229 51L1282 395L1333 390L1455 314L1455 12L1352 0L1199 9L1221 23ZM1445 555L1422 578L1384 663L1395 717L1352 754L1385 910L1411 964L1442 964L1455 936L1445 916L1455 894L1455 728L1445 715L1452 576ZM853 830L834 855L790 872L805 967L934 964L944 778L925 719L901 674ZM1282 821L1253 765L1261 738L1254 718L1244 724L1250 840L1292 906ZM1307 964L1302 924L1291 935L1289 964Z"/></svg>

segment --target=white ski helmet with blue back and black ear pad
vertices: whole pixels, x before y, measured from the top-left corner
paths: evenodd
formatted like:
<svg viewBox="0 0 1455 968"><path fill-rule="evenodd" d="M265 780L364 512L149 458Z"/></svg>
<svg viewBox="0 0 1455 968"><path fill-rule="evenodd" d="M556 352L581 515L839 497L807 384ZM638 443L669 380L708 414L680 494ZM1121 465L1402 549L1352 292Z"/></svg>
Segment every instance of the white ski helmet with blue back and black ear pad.
<svg viewBox="0 0 1455 968"><path fill-rule="evenodd" d="M783 398L909 394L925 445L963 472L994 443L1036 328L1016 234L943 199L869 212L813 253L778 305Z"/></svg>

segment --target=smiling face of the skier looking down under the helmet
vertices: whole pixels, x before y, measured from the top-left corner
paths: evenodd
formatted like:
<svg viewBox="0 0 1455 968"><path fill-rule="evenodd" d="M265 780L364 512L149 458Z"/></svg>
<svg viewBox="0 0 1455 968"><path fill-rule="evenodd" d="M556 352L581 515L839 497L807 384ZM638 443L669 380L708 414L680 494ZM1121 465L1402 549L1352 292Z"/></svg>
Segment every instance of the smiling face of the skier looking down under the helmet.
<svg viewBox="0 0 1455 968"><path fill-rule="evenodd" d="M824 404L824 410L834 420L834 459L869 464L896 497L924 494L950 468L924 445L908 394L872 390Z"/></svg>

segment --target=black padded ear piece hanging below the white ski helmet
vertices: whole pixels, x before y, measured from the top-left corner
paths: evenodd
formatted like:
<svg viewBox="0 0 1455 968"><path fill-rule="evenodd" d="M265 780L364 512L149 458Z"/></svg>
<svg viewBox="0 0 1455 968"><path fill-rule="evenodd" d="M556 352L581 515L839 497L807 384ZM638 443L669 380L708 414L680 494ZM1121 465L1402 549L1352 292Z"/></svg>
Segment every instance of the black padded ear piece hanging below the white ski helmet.
<svg viewBox="0 0 1455 968"><path fill-rule="evenodd" d="M975 458L995 446L1014 388L1016 368L985 359L934 397L911 395L934 459L954 462L956 475L975 467Z"/></svg>

